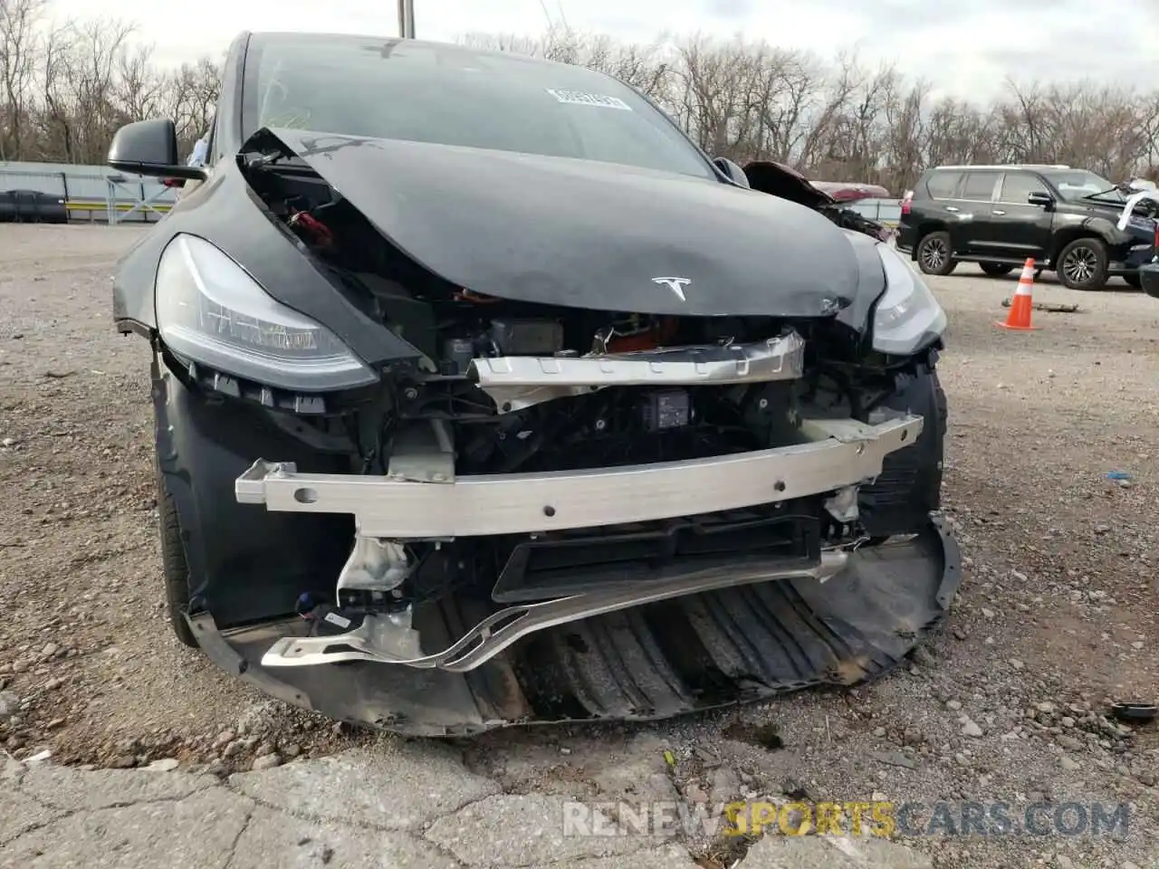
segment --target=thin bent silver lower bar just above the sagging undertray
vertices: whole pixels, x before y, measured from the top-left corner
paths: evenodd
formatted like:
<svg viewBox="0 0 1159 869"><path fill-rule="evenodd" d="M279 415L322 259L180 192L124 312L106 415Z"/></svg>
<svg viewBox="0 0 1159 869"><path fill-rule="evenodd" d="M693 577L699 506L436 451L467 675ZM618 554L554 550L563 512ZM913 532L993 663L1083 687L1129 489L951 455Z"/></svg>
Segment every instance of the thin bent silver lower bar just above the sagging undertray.
<svg viewBox="0 0 1159 869"><path fill-rule="evenodd" d="M603 615L618 609L661 600L773 579L815 579L823 583L839 574L848 554L823 552L811 567L729 565L700 570L670 579L632 584L625 587L576 594L570 598L524 604L500 609L483 619L460 640L440 652L401 657L386 647L398 636L389 616L367 615L355 630L334 636L282 637L262 657L263 667L318 666L350 660L401 664L410 667L466 672L484 664L516 641L556 625ZM398 647L396 647L398 648Z"/></svg>

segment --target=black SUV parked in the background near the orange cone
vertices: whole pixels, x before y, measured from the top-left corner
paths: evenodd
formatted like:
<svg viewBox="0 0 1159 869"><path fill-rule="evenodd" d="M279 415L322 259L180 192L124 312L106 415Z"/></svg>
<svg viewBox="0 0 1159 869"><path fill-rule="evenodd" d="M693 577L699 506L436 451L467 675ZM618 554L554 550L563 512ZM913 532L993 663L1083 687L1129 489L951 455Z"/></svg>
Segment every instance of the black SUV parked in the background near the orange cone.
<svg viewBox="0 0 1159 869"><path fill-rule="evenodd" d="M1100 290L1113 275L1139 286L1156 256L1154 202L1117 227L1124 192L1067 166L939 166L902 200L897 247L927 275L974 262L990 276L1035 258L1072 290Z"/></svg>

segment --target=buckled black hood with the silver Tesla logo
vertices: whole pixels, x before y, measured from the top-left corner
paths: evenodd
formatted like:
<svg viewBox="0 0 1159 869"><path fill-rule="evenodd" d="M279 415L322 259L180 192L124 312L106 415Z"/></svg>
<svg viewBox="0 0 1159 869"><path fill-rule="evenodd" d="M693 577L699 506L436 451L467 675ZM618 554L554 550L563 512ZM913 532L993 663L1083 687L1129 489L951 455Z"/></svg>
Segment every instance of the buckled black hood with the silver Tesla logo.
<svg viewBox="0 0 1159 869"><path fill-rule="evenodd" d="M803 205L709 177L271 130L403 254L506 299L675 315L815 317L859 257ZM706 165L707 168L707 165ZM662 278L683 278L676 284Z"/></svg>

